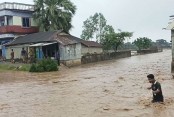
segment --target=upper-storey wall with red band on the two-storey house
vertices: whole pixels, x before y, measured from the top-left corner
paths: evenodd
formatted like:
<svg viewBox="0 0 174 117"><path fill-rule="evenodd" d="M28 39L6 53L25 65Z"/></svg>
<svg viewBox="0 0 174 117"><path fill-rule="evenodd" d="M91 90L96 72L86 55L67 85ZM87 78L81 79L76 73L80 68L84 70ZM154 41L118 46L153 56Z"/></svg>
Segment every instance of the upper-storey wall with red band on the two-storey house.
<svg viewBox="0 0 174 117"><path fill-rule="evenodd" d="M2 34L30 34L39 31L32 18L31 11L13 11L13 10L2 10L0 16L5 19L4 25L0 26L0 33ZM22 27L22 18L30 18L30 27ZM7 25L8 22L8 25Z"/></svg>

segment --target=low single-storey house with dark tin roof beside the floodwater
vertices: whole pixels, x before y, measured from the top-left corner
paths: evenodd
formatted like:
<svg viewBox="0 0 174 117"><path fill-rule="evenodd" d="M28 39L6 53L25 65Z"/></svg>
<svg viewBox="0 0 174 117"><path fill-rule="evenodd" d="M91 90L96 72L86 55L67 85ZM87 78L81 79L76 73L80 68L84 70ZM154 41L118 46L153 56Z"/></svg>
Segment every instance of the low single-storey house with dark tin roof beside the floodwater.
<svg viewBox="0 0 174 117"><path fill-rule="evenodd" d="M101 53L102 46L93 41L84 41L64 31L38 32L20 36L6 46L6 58L10 59L11 49L15 52L15 58L20 58L20 51L25 48L28 53L34 50L37 59L44 57L55 58L59 52L60 61L67 66L81 64L81 57L87 53Z"/></svg>

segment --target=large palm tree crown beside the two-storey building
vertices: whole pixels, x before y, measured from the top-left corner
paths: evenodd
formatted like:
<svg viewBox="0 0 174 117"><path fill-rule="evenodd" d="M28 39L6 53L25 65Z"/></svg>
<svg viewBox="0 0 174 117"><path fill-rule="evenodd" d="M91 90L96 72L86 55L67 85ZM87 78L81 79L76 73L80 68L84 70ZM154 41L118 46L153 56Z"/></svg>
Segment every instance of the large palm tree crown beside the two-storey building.
<svg viewBox="0 0 174 117"><path fill-rule="evenodd" d="M34 20L41 30L65 30L72 28L71 20L76 6L70 0L34 0Z"/></svg>

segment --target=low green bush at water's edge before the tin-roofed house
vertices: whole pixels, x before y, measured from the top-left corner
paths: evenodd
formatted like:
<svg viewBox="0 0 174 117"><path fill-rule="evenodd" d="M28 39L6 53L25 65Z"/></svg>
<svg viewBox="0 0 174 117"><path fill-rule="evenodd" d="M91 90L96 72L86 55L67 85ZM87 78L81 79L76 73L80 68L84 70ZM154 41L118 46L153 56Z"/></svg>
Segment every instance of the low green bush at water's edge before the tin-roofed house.
<svg viewBox="0 0 174 117"><path fill-rule="evenodd" d="M57 71L57 63L51 59L43 59L36 64L32 64L30 72L50 72Z"/></svg>

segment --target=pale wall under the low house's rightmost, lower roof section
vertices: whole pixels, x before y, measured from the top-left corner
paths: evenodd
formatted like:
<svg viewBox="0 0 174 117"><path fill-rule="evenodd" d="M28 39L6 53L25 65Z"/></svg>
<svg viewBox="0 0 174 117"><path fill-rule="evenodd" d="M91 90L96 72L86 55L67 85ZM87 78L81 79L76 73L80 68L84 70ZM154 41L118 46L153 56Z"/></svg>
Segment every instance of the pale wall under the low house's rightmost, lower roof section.
<svg viewBox="0 0 174 117"><path fill-rule="evenodd" d="M84 45L82 45L82 55L85 55L87 53L102 53L103 49L102 48L96 48L96 47L86 47Z"/></svg>

